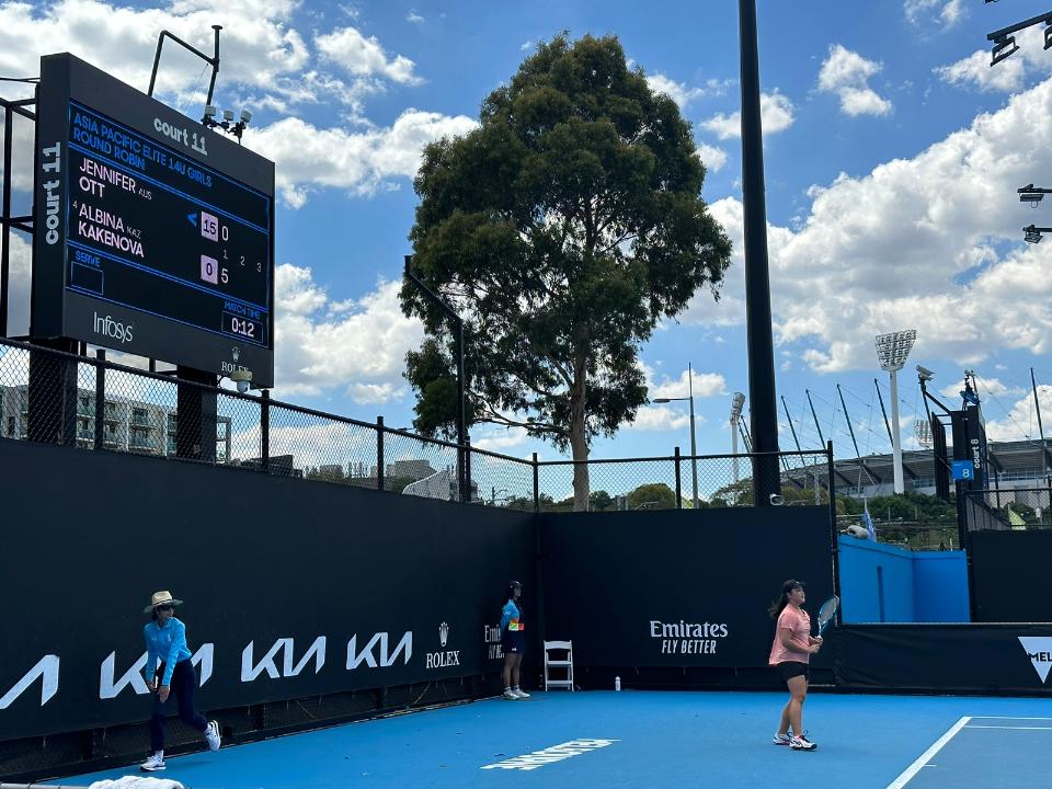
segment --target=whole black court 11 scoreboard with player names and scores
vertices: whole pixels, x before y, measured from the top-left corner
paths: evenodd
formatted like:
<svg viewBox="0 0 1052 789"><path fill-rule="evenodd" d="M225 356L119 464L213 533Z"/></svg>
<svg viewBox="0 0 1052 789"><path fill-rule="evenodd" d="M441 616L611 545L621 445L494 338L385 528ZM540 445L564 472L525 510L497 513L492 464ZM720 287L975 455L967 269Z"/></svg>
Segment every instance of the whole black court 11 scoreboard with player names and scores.
<svg viewBox="0 0 1052 789"><path fill-rule="evenodd" d="M273 386L273 162L53 55L35 190L34 336Z"/></svg>

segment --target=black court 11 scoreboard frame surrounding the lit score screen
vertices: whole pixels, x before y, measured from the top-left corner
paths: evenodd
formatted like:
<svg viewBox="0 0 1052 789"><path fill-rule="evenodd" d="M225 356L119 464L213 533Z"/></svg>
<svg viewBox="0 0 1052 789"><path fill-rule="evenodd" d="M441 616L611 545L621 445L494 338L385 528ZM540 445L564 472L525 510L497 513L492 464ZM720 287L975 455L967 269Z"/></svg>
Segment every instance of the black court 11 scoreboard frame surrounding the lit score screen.
<svg viewBox="0 0 1052 789"><path fill-rule="evenodd" d="M102 294L92 295L90 289L75 289L76 284L70 287L75 268L70 230L76 219L71 213L75 173L69 172L69 141L73 133L73 108L78 105L83 112L102 116L112 122L113 127L140 140L140 147L168 151L192 170L210 173L232 184L230 188L240 187L258 193L265 201L266 261L261 265L265 267L267 293L266 304L262 305L265 319L258 321L263 338L253 340L224 333L224 321L228 316L226 302L242 299L220 293L218 284L216 288L208 288L207 283L203 286L151 271L148 261L144 261L145 265L138 266L138 270L146 272L147 278L150 273L157 275L156 283L149 279L149 287L155 288L155 299L158 296L156 288L162 287L159 283L172 283L165 291L168 315L106 299ZM34 152L36 232L30 328L34 339L68 338L217 376L248 369L252 373L253 386L270 388L274 385L274 162L68 53L41 58ZM117 169L122 168L117 165ZM136 172L133 167L123 169L133 174ZM151 172L158 169L153 168ZM142 181L148 183L150 179L144 175ZM161 184L160 188L168 190L168 184ZM174 187L170 191L180 194ZM185 194L173 199L194 202L193 197ZM230 216L237 219L236 215ZM139 219L147 220L137 216L136 222ZM187 217L169 217L169 220L187 221ZM100 221L104 224L105 219ZM162 239L151 241L156 248ZM144 248L144 251L148 251L148 248ZM187 254L191 254L188 250ZM101 256L110 262L117 260L116 255L108 256L106 253ZM202 265L205 265L204 260ZM89 277L92 276L90 268L83 265L80 268L87 271ZM263 271L260 270L260 273ZM144 278L141 273L137 276ZM104 279L104 272L98 277ZM180 294L193 294L198 301L222 301L217 322L206 327L199 320L181 320ZM188 307L188 302L185 307ZM262 311L259 315L263 315ZM244 329L245 321L233 319L232 324L233 328L240 325Z"/></svg>

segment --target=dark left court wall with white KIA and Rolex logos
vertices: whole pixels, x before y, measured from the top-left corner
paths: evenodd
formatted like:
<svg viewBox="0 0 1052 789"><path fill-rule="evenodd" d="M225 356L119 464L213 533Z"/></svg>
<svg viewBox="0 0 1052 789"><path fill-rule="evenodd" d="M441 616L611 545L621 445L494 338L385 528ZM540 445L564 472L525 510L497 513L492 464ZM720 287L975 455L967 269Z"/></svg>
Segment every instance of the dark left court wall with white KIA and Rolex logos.
<svg viewBox="0 0 1052 789"><path fill-rule="evenodd" d="M24 442L0 467L0 741L148 720L158 588L207 711L499 672L501 594L535 578L531 513Z"/></svg>

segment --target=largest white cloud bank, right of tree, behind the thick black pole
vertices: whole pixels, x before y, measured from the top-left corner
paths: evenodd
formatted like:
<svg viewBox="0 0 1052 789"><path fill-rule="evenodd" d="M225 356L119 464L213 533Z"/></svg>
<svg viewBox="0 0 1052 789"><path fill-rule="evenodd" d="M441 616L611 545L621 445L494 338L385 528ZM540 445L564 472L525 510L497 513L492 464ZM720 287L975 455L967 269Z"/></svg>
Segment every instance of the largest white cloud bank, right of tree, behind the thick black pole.
<svg viewBox="0 0 1052 789"><path fill-rule="evenodd" d="M1048 353L1052 248L1021 243L1032 219L1014 197L1049 170L1052 80L913 159L813 187L798 230L768 228L776 340L821 373L873 367L873 335L903 328L917 329L922 364ZM734 243L732 267L720 301L700 293L683 320L741 323L742 205L710 209Z"/></svg>

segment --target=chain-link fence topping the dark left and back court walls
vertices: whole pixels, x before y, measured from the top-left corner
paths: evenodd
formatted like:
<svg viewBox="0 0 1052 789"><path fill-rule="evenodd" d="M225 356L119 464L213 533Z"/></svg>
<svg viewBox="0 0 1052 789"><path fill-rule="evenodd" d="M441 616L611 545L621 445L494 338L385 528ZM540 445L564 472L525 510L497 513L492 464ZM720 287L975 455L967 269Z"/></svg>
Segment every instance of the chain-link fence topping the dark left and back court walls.
<svg viewBox="0 0 1052 789"><path fill-rule="evenodd" d="M530 461L9 340L0 437L541 512L752 506L755 479L828 502L831 479L826 450Z"/></svg>

